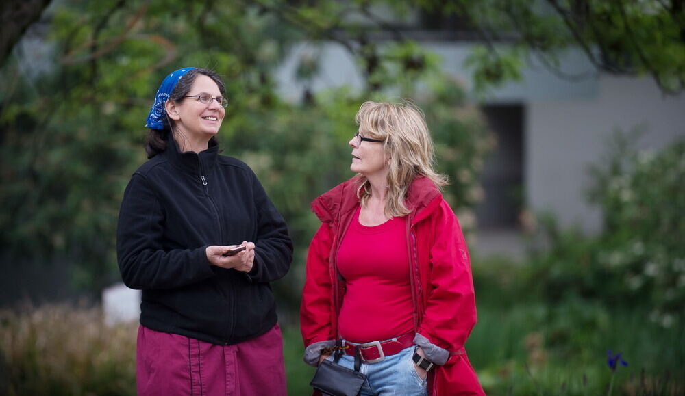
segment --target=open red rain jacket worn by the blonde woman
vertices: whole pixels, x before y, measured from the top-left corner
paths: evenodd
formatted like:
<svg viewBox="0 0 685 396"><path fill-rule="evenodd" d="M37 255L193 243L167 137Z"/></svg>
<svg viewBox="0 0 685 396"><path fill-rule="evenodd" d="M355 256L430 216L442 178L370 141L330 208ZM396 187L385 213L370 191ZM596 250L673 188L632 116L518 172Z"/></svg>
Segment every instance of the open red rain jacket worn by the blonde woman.
<svg viewBox="0 0 685 396"><path fill-rule="evenodd" d="M300 321L306 347L338 336L345 282L336 276L335 257L360 204L357 185L354 177L312 202L312 211L323 224L310 244L302 292ZM429 395L484 395L464 350L476 309L469 252L457 217L425 177L414 179L406 204L412 210L406 224L414 328L450 353L445 365L429 373Z"/></svg>

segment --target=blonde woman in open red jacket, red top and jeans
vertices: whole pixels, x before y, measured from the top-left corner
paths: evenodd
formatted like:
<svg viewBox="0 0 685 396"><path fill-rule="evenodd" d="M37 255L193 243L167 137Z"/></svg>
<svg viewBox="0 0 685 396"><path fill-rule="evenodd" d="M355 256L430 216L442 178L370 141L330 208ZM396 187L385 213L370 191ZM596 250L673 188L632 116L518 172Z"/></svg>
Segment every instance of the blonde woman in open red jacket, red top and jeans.
<svg viewBox="0 0 685 396"><path fill-rule="evenodd" d="M305 361L353 367L360 395L482 395L464 343L476 322L469 253L440 194L446 178L421 110L364 103L349 141L356 176L312 202L300 310ZM359 346L359 348L357 348Z"/></svg>

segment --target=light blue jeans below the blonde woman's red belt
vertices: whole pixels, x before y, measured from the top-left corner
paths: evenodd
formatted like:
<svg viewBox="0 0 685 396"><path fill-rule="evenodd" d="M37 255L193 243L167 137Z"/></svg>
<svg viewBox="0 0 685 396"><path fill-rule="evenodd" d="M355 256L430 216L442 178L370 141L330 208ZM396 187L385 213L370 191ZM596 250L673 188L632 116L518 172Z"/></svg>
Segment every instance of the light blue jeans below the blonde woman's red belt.
<svg viewBox="0 0 685 396"><path fill-rule="evenodd" d="M402 349L399 353L386 356L382 362L367 365L362 363L359 369L366 374L366 381L360 391L361 396L376 395L428 395L427 380L422 380L414 368L415 347ZM327 358L333 360L332 356ZM340 357L338 365L354 369L354 358L347 354Z"/></svg>

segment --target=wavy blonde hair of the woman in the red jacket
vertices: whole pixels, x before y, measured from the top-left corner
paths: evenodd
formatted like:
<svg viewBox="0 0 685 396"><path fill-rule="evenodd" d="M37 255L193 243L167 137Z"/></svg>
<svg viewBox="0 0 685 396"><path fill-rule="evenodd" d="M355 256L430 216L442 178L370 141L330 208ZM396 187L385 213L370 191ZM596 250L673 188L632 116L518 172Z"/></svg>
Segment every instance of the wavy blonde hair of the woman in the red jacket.
<svg viewBox="0 0 685 396"><path fill-rule="evenodd" d="M414 103L367 101L359 108L355 122L363 135L384 140L384 154L390 165L384 211L387 217L402 217L411 212L404 200L416 176L427 177L437 187L447 184L447 176L433 169L433 140L423 111ZM360 176L357 196L365 205L371 196L371 183Z"/></svg>

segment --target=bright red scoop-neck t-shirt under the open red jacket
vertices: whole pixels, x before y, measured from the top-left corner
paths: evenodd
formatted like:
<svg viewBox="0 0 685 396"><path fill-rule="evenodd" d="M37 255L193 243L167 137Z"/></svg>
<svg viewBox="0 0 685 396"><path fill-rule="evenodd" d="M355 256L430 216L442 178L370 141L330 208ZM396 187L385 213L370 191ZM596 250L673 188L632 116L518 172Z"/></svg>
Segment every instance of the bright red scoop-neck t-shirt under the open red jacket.
<svg viewBox="0 0 685 396"><path fill-rule="evenodd" d="M358 208L338 250L347 282L338 328L353 343L383 341L414 330L406 217L359 224Z"/></svg>

